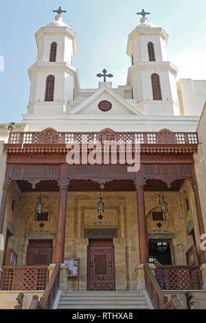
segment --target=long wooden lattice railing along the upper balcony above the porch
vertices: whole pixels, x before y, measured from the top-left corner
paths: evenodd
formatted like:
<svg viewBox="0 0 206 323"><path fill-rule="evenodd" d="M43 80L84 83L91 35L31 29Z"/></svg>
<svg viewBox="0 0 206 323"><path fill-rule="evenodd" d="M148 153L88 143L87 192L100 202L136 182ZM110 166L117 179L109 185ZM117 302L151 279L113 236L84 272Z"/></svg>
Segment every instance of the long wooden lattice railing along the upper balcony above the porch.
<svg viewBox="0 0 206 323"><path fill-rule="evenodd" d="M198 144L197 133L55 133L55 132L13 132L8 144L87 144L89 142L119 142L131 144Z"/></svg>

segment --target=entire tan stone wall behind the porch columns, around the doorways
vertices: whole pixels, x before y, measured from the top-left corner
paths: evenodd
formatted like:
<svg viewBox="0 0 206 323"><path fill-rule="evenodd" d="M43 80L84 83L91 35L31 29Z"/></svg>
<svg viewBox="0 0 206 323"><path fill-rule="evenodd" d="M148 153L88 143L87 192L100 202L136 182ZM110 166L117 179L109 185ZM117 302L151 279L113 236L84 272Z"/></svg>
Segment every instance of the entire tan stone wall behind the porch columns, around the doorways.
<svg viewBox="0 0 206 323"><path fill-rule="evenodd" d="M185 251L192 245L192 236L187 236L187 223L194 219L197 227L194 197L190 182L185 182L180 192L145 192L148 232L158 231L157 221L152 221L150 210L158 208L157 196L162 194L168 202L166 220L161 229L172 234L172 262L186 265ZM184 191L190 197L190 212L185 211ZM36 202L39 192L20 192L12 182L5 213L5 227L12 222L14 235L10 236L9 247L18 254L17 265L26 265L27 247L30 239L53 239L55 247L58 219L58 192L43 193L43 211L49 212L49 221L35 221ZM98 219L99 192L68 192L65 258L80 258L80 278L69 278L70 290L87 290L87 247L85 229L116 228L118 235L113 239L115 249L116 290L137 289L139 265L139 238L137 227L137 202L135 192L103 192L104 213ZM11 210L15 199L14 212ZM43 224L43 227L40 227ZM196 236L198 238L198 230ZM4 230L5 232L5 230ZM164 236L163 236L164 237Z"/></svg>

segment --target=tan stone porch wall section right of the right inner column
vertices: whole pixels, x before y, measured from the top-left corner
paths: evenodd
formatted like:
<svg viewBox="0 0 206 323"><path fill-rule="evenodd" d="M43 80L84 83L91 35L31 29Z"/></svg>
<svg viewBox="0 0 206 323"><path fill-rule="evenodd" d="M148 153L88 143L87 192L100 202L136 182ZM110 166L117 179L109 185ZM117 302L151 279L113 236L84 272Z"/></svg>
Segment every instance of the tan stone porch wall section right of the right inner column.
<svg viewBox="0 0 206 323"><path fill-rule="evenodd" d="M185 193L187 192L187 193ZM190 201L190 211L185 208L185 195ZM168 203L168 212L165 214L165 221L152 221L151 211L160 211L159 197L165 197ZM145 192L146 216L148 233L157 237L169 239L172 265L186 265L185 252L193 245L192 236L187 235L187 223L194 220L196 241L199 241L198 223L194 194L190 181L185 181L180 192ZM157 224L161 223L159 228ZM159 234L158 234L159 233Z"/></svg>

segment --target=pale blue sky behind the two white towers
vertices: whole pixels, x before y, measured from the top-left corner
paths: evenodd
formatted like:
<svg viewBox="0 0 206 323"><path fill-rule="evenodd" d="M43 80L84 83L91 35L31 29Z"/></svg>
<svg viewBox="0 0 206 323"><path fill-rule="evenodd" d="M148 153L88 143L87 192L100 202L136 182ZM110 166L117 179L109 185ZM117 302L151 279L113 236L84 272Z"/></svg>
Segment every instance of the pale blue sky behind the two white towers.
<svg viewBox="0 0 206 323"><path fill-rule="evenodd" d="M1 1L3 2L3 1ZM95 75L106 68L113 87L126 84L130 58L128 34L139 25L137 12L151 12L149 21L169 34L168 58L179 67L178 78L206 79L205 0L8 0L1 3L1 120L21 122L27 113L30 80L27 69L36 61L34 33L54 21L61 5L64 21L77 32L80 87L97 88Z"/></svg>

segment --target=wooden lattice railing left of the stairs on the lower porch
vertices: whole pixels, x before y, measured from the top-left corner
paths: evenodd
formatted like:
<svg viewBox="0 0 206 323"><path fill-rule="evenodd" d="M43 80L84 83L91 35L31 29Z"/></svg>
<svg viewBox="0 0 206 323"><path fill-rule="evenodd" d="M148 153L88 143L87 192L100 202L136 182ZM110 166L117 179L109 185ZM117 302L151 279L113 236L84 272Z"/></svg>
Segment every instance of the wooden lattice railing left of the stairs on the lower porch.
<svg viewBox="0 0 206 323"><path fill-rule="evenodd" d="M3 267L1 291L44 291L48 281L48 267Z"/></svg>

